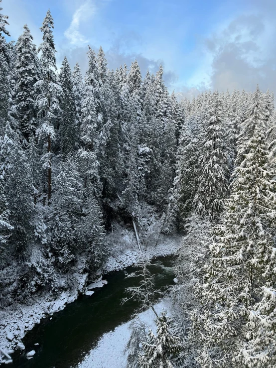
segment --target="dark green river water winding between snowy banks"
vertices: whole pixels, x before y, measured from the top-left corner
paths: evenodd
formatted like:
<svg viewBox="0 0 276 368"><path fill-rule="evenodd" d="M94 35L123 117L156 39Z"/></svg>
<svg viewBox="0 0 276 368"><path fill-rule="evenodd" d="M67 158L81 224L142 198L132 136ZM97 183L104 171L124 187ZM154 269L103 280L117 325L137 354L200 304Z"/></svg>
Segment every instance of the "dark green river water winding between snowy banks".
<svg viewBox="0 0 276 368"><path fill-rule="evenodd" d="M173 257L159 257L152 261L151 272L155 275L155 286L165 290L173 283ZM92 296L82 296L69 304L63 311L55 313L52 320L41 321L23 339L24 353L14 353L10 368L70 368L82 361L93 349L101 336L116 326L128 322L138 303L128 301L121 305L126 296L125 289L138 285L138 278L125 278L126 273L136 267L112 272L104 279L108 284L95 291ZM39 346L34 346L38 343ZM30 360L25 354L35 350Z"/></svg>

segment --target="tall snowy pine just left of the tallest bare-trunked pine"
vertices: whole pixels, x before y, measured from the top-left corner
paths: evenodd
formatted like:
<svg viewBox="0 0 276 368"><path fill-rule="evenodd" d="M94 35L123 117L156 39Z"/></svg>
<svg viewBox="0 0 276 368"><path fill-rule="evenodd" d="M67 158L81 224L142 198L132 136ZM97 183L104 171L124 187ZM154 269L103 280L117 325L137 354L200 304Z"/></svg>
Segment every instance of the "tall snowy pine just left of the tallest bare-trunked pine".
<svg viewBox="0 0 276 368"><path fill-rule="evenodd" d="M28 26L24 25L24 32L19 36L15 46L15 87L13 100L15 118L18 128L28 141L29 135L35 132L36 119L36 91L34 84L40 79L38 58L33 37Z"/></svg>

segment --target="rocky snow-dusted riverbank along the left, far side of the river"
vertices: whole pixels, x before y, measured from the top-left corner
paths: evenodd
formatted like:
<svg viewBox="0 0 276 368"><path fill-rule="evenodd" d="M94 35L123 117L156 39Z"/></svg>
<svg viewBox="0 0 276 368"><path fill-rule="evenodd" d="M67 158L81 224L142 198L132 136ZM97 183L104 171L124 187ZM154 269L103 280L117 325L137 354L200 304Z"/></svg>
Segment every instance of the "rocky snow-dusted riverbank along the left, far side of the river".
<svg viewBox="0 0 276 368"><path fill-rule="evenodd" d="M131 232L122 230L121 232L117 231L109 234L108 242L111 255L103 267L103 273L106 274L129 267L138 263L143 256L151 259L173 254L178 249L180 240L179 236L162 236L157 246L144 246L144 254L141 255L135 243L135 236ZM67 304L74 302L79 294L84 294L88 289L93 288L91 285L86 288L87 273L75 273L73 277L76 280L76 286L70 290L62 291L58 296L53 296L50 292L40 293L35 295L28 303L14 304L1 311L0 348L7 354L12 354L14 350L24 350L21 340L27 331L31 330L42 318L63 310ZM96 287L103 285L104 283L100 280ZM92 294L93 292L91 292ZM7 359L0 353L0 363L6 361Z"/></svg>

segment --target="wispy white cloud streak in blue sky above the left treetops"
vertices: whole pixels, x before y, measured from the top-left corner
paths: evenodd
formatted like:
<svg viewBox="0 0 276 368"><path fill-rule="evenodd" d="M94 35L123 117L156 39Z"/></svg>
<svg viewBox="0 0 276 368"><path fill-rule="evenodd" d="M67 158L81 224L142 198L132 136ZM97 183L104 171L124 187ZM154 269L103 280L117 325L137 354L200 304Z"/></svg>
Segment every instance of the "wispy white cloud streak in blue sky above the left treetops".
<svg viewBox="0 0 276 368"><path fill-rule="evenodd" d="M69 28L64 32L65 37L73 45L88 43L89 40L80 32L82 23L89 20L96 13L96 5L91 1L85 1L73 14Z"/></svg>

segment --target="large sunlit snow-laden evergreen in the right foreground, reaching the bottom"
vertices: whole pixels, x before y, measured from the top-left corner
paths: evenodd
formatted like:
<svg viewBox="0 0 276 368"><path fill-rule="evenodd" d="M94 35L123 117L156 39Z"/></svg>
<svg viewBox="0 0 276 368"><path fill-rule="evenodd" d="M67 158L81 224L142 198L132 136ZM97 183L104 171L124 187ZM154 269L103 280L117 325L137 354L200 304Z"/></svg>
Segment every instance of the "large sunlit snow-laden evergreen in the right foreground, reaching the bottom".
<svg viewBox="0 0 276 368"><path fill-rule="evenodd" d="M247 153L233 174L222 224L216 226L210 242L210 262L205 268L204 281L197 286L199 297L208 305L202 314L194 311L192 315L196 339L202 343L198 358L202 367L215 367L218 360L223 366L234 359L240 351L242 333L251 341L250 346L256 348L258 341L254 341L254 336L258 339L261 330L252 331L249 315L255 307L259 308L256 302L263 286L270 288L275 284L276 196L274 174L268 169L270 156L265 133L266 126L256 119L252 137L244 146ZM270 351L269 340L263 341L255 350L255 357L265 344ZM244 362L247 354L255 354L247 349L244 352ZM250 364L257 361L258 357L247 362L253 367ZM235 362L235 367L239 367L239 360ZM259 362L262 367L262 354Z"/></svg>

